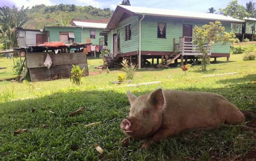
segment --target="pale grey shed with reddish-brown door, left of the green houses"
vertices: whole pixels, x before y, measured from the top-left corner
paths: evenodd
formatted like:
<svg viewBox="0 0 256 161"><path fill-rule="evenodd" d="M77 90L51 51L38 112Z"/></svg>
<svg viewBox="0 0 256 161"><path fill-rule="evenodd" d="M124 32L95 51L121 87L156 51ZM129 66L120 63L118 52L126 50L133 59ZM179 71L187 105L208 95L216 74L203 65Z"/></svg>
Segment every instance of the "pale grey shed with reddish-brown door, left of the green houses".
<svg viewBox="0 0 256 161"><path fill-rule="evenodd" d="M19 48L47 42L46 32L43 30L17 28Z"/></svg>

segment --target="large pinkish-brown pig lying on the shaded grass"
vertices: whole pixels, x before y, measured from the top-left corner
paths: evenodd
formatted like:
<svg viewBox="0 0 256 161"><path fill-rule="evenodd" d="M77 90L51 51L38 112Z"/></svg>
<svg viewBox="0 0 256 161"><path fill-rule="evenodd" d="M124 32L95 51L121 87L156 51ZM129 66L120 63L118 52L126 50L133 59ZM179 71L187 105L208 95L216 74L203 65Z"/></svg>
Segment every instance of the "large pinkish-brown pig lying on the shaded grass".
<svg viewBox="0 0 256 161"><path fill-rule="evenodd" d="M222 95L210 92L188 92L156 89L139 97L127 91L130 115L121 122L128 138L149 137L142 147L183 130L216 127L219 124L239 124L245 120L240 112Z"/></svg>

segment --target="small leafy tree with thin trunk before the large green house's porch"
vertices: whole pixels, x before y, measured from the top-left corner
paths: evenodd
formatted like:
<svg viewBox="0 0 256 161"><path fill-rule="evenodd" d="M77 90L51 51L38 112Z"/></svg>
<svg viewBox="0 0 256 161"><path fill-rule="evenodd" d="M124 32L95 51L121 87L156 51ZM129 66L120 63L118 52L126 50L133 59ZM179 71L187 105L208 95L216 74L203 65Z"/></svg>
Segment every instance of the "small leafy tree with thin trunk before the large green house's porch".
<svg viewBox="0 0 256 161"><path fill-rule="evenodd" d="M209 25L202 27L195 26L193 43L197 44L200 53L202 53L202 55L198 55L202 58L202 71L206 71L209 49L218 42L225 44L234 41L234 37L233 32L225 32L220 21L209 22Z"/></svg>

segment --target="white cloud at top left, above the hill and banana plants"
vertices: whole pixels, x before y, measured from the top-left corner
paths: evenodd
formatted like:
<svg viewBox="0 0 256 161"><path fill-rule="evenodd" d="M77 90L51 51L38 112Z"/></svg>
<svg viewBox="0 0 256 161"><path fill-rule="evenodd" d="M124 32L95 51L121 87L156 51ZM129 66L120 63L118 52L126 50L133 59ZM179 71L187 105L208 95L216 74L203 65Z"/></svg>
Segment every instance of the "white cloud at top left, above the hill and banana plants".
<svg viewBox="0 0 256 161"><path fill-rule="evenodd" d="M15 6L17 7L22 7L24 6L25 8L26 7L29 7L29 8L32 8L32 6L35 6L35 5L46 5L46 6L51 6L51 5L54 5L53 3L50 2L50 0L11 0Z"/></svg>

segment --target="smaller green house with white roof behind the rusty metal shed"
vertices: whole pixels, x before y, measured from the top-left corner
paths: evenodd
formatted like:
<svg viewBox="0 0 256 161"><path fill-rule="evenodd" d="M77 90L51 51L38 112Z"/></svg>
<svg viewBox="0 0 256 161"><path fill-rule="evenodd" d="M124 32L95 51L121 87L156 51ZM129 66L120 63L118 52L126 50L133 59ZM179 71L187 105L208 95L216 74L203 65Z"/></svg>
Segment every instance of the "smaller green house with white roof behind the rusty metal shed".
<svg viewBox="0 0 256 161"><path fill-rule="evenodd" d="M86 39L90 38L93 45L100 44L99 33L106 28L104 23L90 23L73 21L72 26L45 26L44 31L47 33L48 41L75 41L76 43L86 43Z"/></svg>

